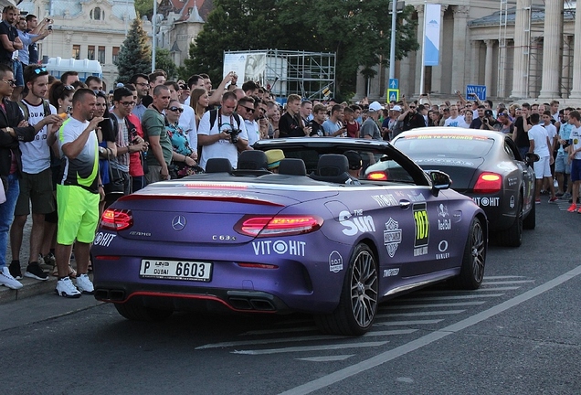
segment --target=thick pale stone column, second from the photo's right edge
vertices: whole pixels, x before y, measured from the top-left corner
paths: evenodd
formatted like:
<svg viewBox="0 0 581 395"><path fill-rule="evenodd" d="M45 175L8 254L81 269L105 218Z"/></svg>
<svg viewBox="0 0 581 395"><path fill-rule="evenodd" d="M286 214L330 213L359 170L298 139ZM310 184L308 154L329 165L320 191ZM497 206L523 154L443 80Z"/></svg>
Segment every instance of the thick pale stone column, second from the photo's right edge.
<svg viewBox="0 0 581 395"><path fill-rule="evenodd" d="M545 2L544 6L544 44L543 44L543 82L539 98L555 99L561 96L559 82L561 77L561 53L563 41L563 0Z"/></svg>

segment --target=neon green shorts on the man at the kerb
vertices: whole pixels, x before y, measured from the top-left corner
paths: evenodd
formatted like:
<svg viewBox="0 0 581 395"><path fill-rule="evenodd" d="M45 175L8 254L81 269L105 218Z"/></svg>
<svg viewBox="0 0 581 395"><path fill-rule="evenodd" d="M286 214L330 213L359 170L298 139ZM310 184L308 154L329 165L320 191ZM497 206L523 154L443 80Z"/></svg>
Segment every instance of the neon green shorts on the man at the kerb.
<svg viewBox="0 0 581 395"><path fill-rule="evenodd" d="M58 244L93 241L99 223L99 201L99 194L82 187L57 186Z"/></svg>

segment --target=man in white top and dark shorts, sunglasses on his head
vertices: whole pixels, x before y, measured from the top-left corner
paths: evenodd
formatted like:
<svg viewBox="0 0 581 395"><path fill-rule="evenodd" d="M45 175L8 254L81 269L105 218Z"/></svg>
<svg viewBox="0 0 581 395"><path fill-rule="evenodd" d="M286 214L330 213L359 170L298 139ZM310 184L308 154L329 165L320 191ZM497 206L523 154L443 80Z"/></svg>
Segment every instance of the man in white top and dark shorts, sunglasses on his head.
<svg viewBox="0 0 581 395"><path fill-rule="evenodd" d="M24 78L28 93L18 105L28 124L35 127L37 135L31 142L20 142L22 178L19 180L20 194L16 201L15 219L10 228L13 260L10 269L16 273L16 279L20 277L20 248L32 203L30 253L25 277L44 281L48 279L48 275L42 271L37 259L42 244L45 215L55 210L50 171L50 145L57 141L55 132L58 131L62 121L57 115L57 109L43 99L48 91L47 69L37 65L26 66Z"/></svg>

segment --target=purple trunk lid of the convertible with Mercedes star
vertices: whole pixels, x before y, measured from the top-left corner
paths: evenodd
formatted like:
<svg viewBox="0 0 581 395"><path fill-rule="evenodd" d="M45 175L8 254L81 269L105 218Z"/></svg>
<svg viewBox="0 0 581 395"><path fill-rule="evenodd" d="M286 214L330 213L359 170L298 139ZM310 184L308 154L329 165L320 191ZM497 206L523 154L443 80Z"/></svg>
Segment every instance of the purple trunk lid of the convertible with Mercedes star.
<svg viewBox="0 0 581 395"><path fill-rule="evenodd" d="M275 216L337 194L333 187L165 182L121 197L111 208L131 210L132 227L118 232L124 239L232 245L255 239L234 230L247 215Z"/></svg>

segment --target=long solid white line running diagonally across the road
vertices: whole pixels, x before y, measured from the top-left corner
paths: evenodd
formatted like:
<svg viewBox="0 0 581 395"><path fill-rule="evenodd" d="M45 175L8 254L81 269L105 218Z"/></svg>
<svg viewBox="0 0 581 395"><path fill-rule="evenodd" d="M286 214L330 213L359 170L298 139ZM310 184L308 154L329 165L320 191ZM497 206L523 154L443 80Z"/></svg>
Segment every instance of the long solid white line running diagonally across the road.
<svg viewBox="0 0 581 395"><path fill-rule="evenodd" d="M399 358L421 347L428 346L429 344L434 343L443 337L453 335L457 332L460 332L461 330L466 329L469 326L473 326L475 324L480 323L481 321L491 318L494 315L499 315L504 311L511 309L514 306L523 304L529 299L533 299L534 297L540 294L544 294L545 292L552 290L556 286L575 278L579 274L581 274L581 265L577 266L575 269L569 272L565 272L565 274L562 274L551 281L536 286L532 290L514 296L512 299L502 302L502 304L497 304L495 306L492 306L488 310L484 310L481 313L471 315L470 317L463 319L456 324L446 326L441 330L432 332L426 336L419 337L416 340L412 340L411 342L403 346L387 350L381 354L376 355L373 358L366 359L350 367L337 370L331 374L323 376L320 379L314 379L312 381L302 384L301 386L281 392L280 395L308 394L315 390L321 390L322 388L333 385L334 383L342 381L343 379L354 376L370 368L378 367L392 359Z"/></svg>

